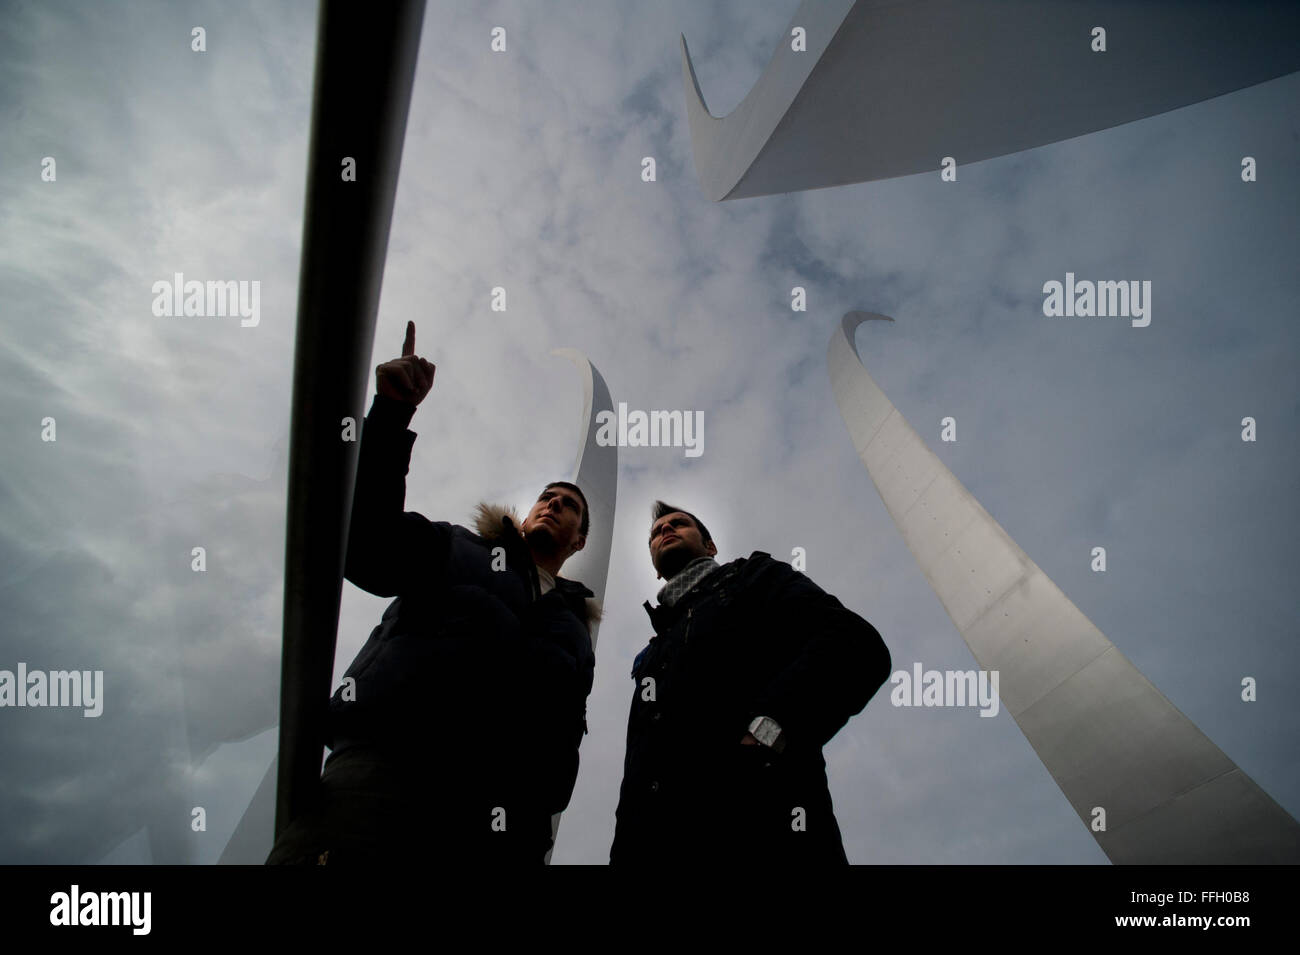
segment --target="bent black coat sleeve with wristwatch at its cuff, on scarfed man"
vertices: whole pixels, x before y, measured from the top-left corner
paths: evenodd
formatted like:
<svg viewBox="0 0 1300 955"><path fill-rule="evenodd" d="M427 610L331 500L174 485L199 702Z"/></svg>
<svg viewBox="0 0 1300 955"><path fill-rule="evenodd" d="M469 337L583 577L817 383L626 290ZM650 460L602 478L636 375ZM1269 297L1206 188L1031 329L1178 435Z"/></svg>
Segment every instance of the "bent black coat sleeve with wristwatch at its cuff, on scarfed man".
<svg viewBox="0 0 1300 955"><path fill-rule="evenodd" d="M820 748L889 678L889 650L871 624L788 564L774 560L758 583L767 618L796 648L748 720L768 716L789 746Z"/></svg>

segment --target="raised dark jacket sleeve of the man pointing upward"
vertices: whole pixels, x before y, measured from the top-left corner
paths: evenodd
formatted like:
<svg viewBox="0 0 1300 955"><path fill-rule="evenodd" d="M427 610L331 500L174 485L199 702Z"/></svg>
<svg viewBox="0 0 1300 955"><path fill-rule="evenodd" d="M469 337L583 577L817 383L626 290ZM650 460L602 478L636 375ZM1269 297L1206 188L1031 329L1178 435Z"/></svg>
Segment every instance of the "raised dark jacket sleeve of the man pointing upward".
<svg viewBox="0 0 1300 955"><path fill-rule="evenodd" d="M413 414L415 405L377 394L361 427L343 576L376 596L428 586L446 573L451 552L448 525L403 511Z"/></svg>

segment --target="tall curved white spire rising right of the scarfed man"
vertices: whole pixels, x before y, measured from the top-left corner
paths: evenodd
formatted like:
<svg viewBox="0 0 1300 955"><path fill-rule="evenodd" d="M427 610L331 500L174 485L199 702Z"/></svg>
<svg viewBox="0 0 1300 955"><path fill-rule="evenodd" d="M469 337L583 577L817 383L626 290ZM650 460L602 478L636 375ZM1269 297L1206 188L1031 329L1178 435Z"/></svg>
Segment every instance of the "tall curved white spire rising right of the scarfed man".
<svg viewBox="0 0 1300 955"><path fill-rule="evenodd" d="M1030 560L871 379L849 312L831 388L930 586L1113 863L1300 861L1300 825L1148 681Z"/></svg>

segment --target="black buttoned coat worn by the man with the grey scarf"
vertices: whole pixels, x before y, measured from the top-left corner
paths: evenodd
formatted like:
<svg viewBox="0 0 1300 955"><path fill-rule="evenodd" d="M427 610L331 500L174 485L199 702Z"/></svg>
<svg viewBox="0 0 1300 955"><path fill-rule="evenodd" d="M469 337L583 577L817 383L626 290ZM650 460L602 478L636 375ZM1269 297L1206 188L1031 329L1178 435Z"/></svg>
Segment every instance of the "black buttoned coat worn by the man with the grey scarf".
<svg viewBox="0 0 1300 955"><path fill-rule="evenodd" d="M888 680L880 634L757 551L646 611L610 861L845 863L822 747ZM758 716L780 754L741 745Z"/></svg>

